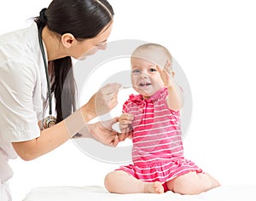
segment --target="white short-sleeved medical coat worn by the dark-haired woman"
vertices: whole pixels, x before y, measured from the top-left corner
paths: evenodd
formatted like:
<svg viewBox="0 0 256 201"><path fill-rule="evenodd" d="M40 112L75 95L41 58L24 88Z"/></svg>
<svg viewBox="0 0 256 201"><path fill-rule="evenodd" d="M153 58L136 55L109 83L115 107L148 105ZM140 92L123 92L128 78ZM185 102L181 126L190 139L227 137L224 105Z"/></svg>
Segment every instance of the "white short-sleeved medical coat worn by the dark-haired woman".
<svg viewBox="0 0 256 201"><path fill-rule="evenodd" d="M0 91L0 181L3 183L13 174L8 164L10 158L16 158L11 143L40 135L38 120L42 119L47 82L35 22L0 36Z"/></svg>

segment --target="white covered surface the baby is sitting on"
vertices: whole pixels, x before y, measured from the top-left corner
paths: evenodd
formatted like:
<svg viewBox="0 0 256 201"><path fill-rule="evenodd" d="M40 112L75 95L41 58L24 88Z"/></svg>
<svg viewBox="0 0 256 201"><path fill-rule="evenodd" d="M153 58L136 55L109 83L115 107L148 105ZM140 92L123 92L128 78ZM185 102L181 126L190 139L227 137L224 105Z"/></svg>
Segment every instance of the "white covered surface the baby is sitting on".
<svg viewBox="0 0 256 201"><path fill-rule="evenodd" d="M221 186L196 195L165 193L118 194L107 192L104 187L36 187L23 201L241 201L256 200L256 186Z"/></svg>

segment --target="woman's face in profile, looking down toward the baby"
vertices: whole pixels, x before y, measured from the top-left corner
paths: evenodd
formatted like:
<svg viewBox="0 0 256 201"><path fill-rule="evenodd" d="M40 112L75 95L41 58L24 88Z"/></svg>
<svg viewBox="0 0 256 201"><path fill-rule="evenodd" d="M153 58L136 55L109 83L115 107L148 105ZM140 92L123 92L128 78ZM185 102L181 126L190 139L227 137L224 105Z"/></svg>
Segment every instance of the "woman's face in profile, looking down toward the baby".
<svg viewBox="0 0 256 201"><path fill-rule="evenodd" d="M94 55L97 50L106 49L112 26L113 21L109 22L96 37L77 42L73 46L73 54L71 56L77 60L84 60L88 55Z"/></svg>

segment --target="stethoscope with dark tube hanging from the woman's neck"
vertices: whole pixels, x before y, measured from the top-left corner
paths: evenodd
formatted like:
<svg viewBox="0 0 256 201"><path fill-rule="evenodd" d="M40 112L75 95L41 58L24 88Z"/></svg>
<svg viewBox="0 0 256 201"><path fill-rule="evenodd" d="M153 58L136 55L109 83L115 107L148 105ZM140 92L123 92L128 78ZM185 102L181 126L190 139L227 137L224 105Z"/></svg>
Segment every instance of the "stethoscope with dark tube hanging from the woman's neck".
<svg viewBox="0 0 256 201"><path fill-rule="evenodd" d="M43 40L42 40L42 31L43 31L44 27L39 27L38 29L38 40L39 40L39 46L41 49L41 53L43 56L43 60L44 60L44 70L45 70L45 76L46 76L46 81L47 81L47 90L48 90L48 98L49 98L49 116L47 118L44 118L44 113L43 113L43 120L41 123L41 127L43 127L44 129L47 129L51 126L54 126L56 123L56 118L52 115L52 97L51 97L51 90L50 90L50 86L49 86L49 73L48 73L48 64L46 61L46 56L44 53L44 45L43 45ZM41 129L43 129L41 128Z"/></svg>

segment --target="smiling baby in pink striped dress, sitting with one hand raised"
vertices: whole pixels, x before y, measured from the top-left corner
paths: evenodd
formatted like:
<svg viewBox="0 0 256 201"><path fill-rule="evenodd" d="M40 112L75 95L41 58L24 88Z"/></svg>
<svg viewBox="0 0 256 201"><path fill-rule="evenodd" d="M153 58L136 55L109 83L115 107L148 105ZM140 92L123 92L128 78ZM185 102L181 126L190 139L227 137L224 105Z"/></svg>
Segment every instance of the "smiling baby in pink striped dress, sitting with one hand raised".
<svg viewBox="0 0 256 201"><path fill-rule="evenodd" d="M183 156L183 97L173 76L172 55L160 44L143 44L131 55L131 83L139 95L125 101L119 138L132 139L133 164L108 173L109 192L196 194L219 186Z"/></svg>

